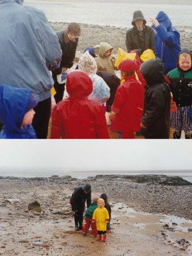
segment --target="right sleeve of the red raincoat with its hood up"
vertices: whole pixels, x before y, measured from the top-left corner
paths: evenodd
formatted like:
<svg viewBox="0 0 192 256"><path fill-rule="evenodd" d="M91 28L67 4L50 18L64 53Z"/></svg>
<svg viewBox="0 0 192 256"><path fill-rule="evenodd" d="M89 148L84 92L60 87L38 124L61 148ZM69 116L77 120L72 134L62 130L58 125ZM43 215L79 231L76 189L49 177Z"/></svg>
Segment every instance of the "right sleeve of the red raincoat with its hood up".
<svg viewBox="0 0 192 256"><path fill-rule="evenodd" d="M95 113L95 129L98 139L109 139L105 112L101 106L98 106L97 113Z"/></svg>

